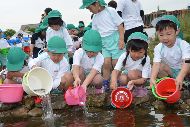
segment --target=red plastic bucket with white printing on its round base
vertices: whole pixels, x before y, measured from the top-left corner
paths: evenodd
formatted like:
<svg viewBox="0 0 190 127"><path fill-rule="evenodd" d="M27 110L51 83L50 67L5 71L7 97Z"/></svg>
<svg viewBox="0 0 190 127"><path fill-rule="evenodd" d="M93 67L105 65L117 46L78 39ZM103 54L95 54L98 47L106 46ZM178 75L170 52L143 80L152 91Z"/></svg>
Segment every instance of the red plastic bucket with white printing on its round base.
<svg viewBox="0 0 190 127"><path fill-rule="evenodd" d="M111 93L111 103L116 108L127 108L133 100L131 91L126 87L117 87L117 90Z"/></svg>

